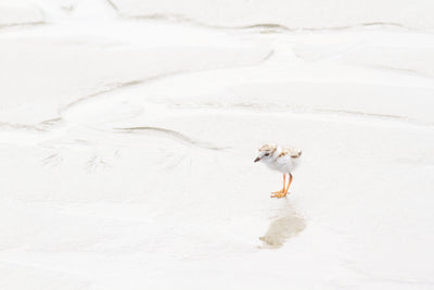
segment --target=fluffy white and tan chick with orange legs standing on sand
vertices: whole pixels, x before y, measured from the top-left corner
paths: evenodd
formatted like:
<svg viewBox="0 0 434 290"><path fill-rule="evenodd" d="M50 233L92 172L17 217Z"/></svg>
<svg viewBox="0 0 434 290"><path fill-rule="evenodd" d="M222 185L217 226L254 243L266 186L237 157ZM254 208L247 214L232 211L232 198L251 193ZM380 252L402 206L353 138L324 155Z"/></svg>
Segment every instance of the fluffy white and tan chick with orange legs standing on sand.
<svg viewBox="0 0 434 290"><path fill-rule="evenodd" d="M258 149L258 155L254 162L261 161L273 171L278 171L283 174L283 188L279 191L271 192L271 198L281 199L288 194L292 182L292 172L299 164L299 156L302 150L286 147L282 148L275 143L264 144ZM290 181L285 186L286 174L289 175Z"/></svg>

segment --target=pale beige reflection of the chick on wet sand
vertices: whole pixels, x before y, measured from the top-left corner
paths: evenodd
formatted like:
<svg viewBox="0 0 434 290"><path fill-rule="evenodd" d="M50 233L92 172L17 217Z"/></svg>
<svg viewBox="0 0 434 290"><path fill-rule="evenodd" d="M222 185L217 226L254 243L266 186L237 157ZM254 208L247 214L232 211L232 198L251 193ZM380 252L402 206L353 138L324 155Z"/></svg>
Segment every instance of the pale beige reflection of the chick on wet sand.
<svg viewBox="0 0 434 290"><path fill-rule="evenodd" d="M272 218L264 237L263 249L277 249L282 247L285 241L295 237L306 227L306 219L297 213L294 205L288 200L282 201L282 205L277 210L277 216Z"/></svg>

